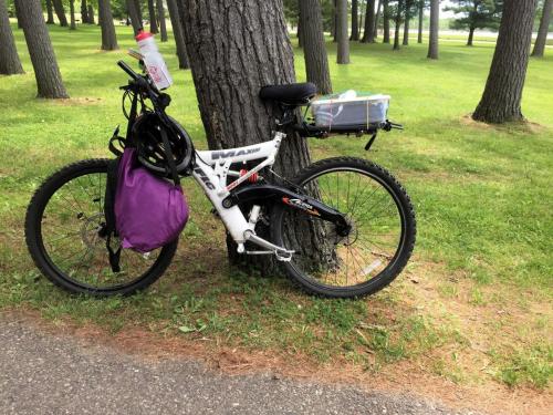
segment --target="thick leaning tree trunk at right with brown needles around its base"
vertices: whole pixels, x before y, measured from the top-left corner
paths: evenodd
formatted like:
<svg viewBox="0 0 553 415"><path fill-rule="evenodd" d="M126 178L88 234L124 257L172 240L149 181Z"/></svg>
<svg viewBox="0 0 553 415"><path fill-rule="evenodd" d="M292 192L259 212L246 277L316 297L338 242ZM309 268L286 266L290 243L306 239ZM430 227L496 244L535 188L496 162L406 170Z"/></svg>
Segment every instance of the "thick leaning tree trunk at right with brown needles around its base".
<svg viewBox="0 0 553 415"><path fill-rule="evenodd" d="M472 118L497 124L524 120L521 98L535 7L536 0L504 2L490 74Z"/></svg>

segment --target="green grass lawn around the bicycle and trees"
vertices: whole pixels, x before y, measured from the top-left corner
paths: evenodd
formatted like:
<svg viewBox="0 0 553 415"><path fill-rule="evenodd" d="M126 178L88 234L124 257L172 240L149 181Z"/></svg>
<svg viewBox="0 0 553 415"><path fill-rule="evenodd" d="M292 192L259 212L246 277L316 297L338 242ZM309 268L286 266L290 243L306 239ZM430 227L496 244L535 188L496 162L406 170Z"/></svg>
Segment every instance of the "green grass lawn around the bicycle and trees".
<svg viewBox="0 0 553 415"><path fill-rule="evenodd" d="M115 62L134 43L131 30L118 27L122 50L105 53L96 27L50 28L67 101L34 97L23 35L13 30L28 73L0 77L0 309L38 310L55 322L111 332L142 328L213 352L264 351L375 376L400 367L467 386L551 392L552 51L530 62L522 105L532 124L491 127L467 114L479 101L493 44L444 42L436 62L416 43L398 52L352 44L352 64L338 66L328 43L334 90L390 94L389 117L406 127L382 134L371 153L366 138L310 142L315 158L352 155L385 166L413 198L415 256L380 293L321 300L286 280L230 269L222 226L185 180L191 221L169 270L144 293L98 301L70 297L39 274L22 224L44 177L73 160L108 156L107 138L124 122L117 86L126 77ZM190 72L176 70L173 42L161 52L176 80L169 113L206 148ZM302 80L302 51L295 53Z"/></svg>

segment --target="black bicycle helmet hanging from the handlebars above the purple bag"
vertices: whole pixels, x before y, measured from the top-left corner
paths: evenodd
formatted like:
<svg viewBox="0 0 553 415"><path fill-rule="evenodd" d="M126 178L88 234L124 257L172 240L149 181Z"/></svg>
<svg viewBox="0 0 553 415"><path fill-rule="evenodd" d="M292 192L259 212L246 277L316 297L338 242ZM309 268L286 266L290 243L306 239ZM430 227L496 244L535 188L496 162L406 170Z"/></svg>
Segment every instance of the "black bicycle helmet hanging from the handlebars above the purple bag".
<svg viewBox="0 0 553 415"><path fill-rule="evenodd" d="M177 173L185 175L191 167L194 146L188 133L175 120L168 117L170 125L166 126L152 112L143 113L133 125L133 138L138 160L150 172L171 177L169 164L164 151L161 128L169 141Z"/></svg>

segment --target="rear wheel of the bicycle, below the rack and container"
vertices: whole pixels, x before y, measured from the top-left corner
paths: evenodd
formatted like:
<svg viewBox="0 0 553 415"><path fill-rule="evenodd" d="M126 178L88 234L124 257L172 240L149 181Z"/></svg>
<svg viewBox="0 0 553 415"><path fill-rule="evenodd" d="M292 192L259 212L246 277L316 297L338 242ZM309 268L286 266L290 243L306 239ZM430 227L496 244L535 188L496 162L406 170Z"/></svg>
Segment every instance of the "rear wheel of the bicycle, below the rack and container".
<svg viewBox="0 0 553 415"><path fill-rule="evenodd" d="M351 230L281 204L271 219L273 241L293 250L283 262L307 292L331 298L372 294L407 263L416 238L413 205L384 168L359 158L328 158L293 180L306 195L345 215Z"/></svg>

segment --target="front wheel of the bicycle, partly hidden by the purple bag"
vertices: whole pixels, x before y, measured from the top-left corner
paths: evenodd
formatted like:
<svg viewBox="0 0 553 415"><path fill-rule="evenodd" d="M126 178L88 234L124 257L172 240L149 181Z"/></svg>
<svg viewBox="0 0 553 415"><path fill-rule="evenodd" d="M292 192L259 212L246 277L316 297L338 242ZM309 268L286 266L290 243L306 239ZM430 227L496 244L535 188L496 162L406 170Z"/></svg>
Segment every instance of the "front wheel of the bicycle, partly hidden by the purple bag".
<svg viewBox="0 0 553 415"><path fill-rule="evenodd" d="M56 286L97 297L132 294L155 282L169 266L178 238L147 255L123 249L121 272L109 266L102 229L107 159L82 160L49 177L25 218L32 259ZM114 249L118 239L112 238Z"/></svg>

